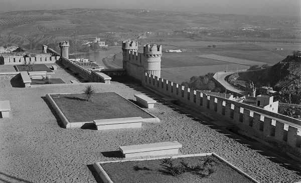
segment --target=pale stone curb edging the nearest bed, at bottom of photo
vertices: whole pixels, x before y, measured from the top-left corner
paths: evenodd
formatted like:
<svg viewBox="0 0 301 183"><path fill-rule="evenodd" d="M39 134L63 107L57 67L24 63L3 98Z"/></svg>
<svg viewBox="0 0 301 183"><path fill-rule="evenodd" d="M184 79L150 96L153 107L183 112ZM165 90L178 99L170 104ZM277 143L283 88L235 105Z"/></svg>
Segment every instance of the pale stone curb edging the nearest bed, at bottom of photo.
<svg viewBox="0 0 301 183"><path fill-rule="evenodd" d="M256 179L254 179L250 175L246 174L245 172L243 172L242 170L240 170L239 168L237 168L236 166L234 166L233 164L231 164L230 162L228 162L227 160L225 160L224 158L222 158L221 156L217 155L214 152L212 152L212 153L199 153L199 154L184 154L184 155L174 155L174 156L163 156L163 157L162 156L161 157L150 157L150 158L140 158L140 159L122 159L122 160L115 160L115 161L100 161L100 162L95 162L93 164L93 167L95 168L96 172L101 177L101 179L104 183L113 183L113 181L111 180L109 175L105 172L105 170L101 167L100 164L109 163L109 162L145 161L145 160L164 159L164 158L170 158L170 157L174 159L174 158L179 158L179 157L194 157L194 156L207 156L207 155L215 156L219 160L224 161L227 165L229 165L232 169L236 170L238 173L243 174L245 177L249 178L250 180L252 180L255 183L260 183L259 181L257 181Z"/></svg>

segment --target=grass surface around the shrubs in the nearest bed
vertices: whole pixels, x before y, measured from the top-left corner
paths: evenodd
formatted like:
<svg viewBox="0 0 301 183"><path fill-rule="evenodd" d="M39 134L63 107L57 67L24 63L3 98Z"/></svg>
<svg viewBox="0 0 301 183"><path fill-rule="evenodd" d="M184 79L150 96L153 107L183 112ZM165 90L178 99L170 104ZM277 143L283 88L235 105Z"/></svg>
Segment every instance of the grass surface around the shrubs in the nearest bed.
<svg viewBox="0 0 301 183"><path fill-rule="evenodd" d="M222 182L252 182L244 175L232 169L226 163L220 161L216 157L210 166L214 172L208 174L207 168L200 171L187 171L179 175L171 175L166 164L162 164L161 159L157 160L144 160L144 161L123 161L123 162L110 162L101 163L100 165L109 175L111 180L117 182L206 182L206 183L222 183ZM184 157L173 159L175 166L180 166L181 161L188 163L190 167L203 164L206 157Z"/></svg>

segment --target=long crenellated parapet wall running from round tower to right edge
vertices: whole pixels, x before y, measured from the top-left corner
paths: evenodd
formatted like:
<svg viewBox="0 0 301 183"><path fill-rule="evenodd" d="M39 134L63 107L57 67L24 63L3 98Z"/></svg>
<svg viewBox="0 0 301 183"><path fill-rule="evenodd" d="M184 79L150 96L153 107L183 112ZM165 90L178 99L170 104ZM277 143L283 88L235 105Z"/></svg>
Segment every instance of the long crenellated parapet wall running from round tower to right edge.
<svg viewBox="0 0 301 183"><path fill-rule="evenodd" d="M301 120L204 94L146 73L142 85L179 99L193 108L214 111L218 116L236 124L242 133L277 147L283 152L301 157Z"/></svg>

